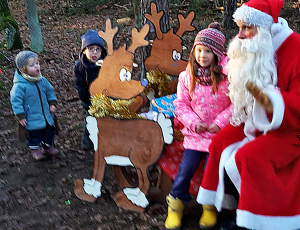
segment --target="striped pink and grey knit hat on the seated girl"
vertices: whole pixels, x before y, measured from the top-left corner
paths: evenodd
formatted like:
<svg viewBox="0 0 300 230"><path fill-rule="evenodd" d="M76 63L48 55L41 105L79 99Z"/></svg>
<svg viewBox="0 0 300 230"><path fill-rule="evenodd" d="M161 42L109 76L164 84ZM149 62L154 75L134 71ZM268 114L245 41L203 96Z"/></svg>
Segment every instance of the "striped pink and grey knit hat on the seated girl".
<svg viewBox="0 0 300 230"><path fill-rule="evenodd" d="M208 48L212 49L212 51L218 56L218 59L220 61L223 57L224 43L225 36L220 30L207 28L201 30L197 34L193 49L196 45L207 46Z"/></svg>

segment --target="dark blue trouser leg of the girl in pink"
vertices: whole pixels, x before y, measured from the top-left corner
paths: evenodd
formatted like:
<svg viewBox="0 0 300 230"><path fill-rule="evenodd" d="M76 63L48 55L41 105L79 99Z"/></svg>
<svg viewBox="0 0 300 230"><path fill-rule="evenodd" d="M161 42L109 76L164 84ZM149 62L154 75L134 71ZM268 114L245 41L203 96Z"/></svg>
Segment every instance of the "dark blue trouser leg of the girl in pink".
<svg viewBox="0 0 300 230"><path fill-rule="evenodd" d="M200 160L206 154L207 152L191 149L186 149L183 152L182 160L170 192L171 196L180 199L184 204L190 201L189 187L191 179L198 168Z"/></svg>

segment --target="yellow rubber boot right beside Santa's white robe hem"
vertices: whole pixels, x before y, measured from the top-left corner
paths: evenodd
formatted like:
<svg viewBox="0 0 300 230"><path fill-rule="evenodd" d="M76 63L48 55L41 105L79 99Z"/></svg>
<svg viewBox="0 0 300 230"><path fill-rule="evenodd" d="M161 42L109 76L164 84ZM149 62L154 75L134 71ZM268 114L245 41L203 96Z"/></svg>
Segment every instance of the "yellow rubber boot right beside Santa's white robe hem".
<svg viewBox="0 0 300 230"><path fill-rule="evenodd" d="M199 221L201 229L210 229L217 224L218 211L214 205L202 205L203 212Z"/></svg>

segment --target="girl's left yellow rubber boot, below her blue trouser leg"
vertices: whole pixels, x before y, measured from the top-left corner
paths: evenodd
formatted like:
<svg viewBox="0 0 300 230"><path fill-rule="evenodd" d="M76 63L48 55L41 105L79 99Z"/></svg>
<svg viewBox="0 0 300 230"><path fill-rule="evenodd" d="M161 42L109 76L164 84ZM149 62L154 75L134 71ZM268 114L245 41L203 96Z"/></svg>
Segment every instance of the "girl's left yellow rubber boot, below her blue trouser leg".
<svg viewBox="0 0 300 230"><path fill-rule="evenodd" d="M167 204L168 216L165 221L165 228L167 230L178 230L181 228L184 205L181 200L171 195L167 196Z"/></svg>

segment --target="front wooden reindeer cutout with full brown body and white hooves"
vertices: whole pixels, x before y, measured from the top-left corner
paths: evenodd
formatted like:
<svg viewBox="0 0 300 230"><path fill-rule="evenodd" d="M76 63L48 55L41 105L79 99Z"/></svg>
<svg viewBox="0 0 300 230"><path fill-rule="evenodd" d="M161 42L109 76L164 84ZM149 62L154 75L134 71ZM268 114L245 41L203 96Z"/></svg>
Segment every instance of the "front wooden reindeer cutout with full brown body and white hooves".
<svg viewBox="0 0 300 230"><path fill-rule="evenodd" d="M97 79L90 86L92 96L106 95L114 99L131 99L139 95L147 85L146 79L139 82L130 78L133 67L133 54L137 47L148 44L144 37L149 25L140 32L132 29L132 44L126 50L125 45L113 50L113 38L118 29L111 27L106 20L105 32L100 37L107 42L108 55L103 60ZM119 207L142 212L148 205L146 194L150 183L147 168L156 163L162 153L164 143L173 141L173 128L169 119L159 114L157 122L146 119L115 119L87 117L87 128L94 143L95 159L92 179L75 181L74 192L82 200L94 202L101 196L101 186L105 164L115 165L115 176L120 187L114 200ZM138 175L138 187L133 188L120 169L132 166Z"/></svg>

